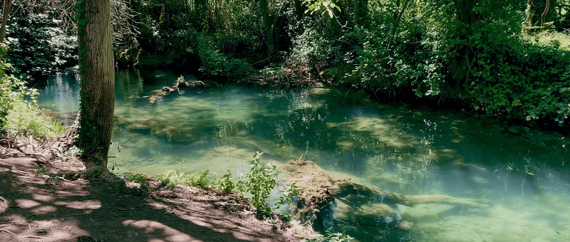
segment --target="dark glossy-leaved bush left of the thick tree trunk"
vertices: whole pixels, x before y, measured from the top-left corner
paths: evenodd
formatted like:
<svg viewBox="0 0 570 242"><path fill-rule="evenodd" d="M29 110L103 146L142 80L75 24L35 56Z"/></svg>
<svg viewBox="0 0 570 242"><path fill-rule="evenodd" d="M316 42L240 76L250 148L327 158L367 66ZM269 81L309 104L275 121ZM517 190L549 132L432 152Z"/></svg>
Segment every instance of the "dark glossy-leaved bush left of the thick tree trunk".
<svg viewBox="0 0 570 242"><path fill-rule="evenodd" d="M66 36L45 14L11 19L6 26L10 50L6 59L21 80L45 78L76 63L77 41Z"/></svg>

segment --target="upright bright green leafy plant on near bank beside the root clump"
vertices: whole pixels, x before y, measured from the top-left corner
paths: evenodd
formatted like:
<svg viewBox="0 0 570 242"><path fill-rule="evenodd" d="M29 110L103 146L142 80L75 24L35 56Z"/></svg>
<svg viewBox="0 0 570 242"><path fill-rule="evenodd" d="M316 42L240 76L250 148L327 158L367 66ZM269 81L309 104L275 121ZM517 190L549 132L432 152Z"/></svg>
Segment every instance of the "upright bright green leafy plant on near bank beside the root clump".
<svg viewBox="0 0 570 242"><path fill-rule="evenodd" d="M261 162L261 154L263 153L256 152L254 159L249 162L251 169L245 176L244 189L252 194L252 203L257 211L269 215L271 208L268 199L271 190L275 188L275 177L278 172L275 170L275 164Z"/></svg>

